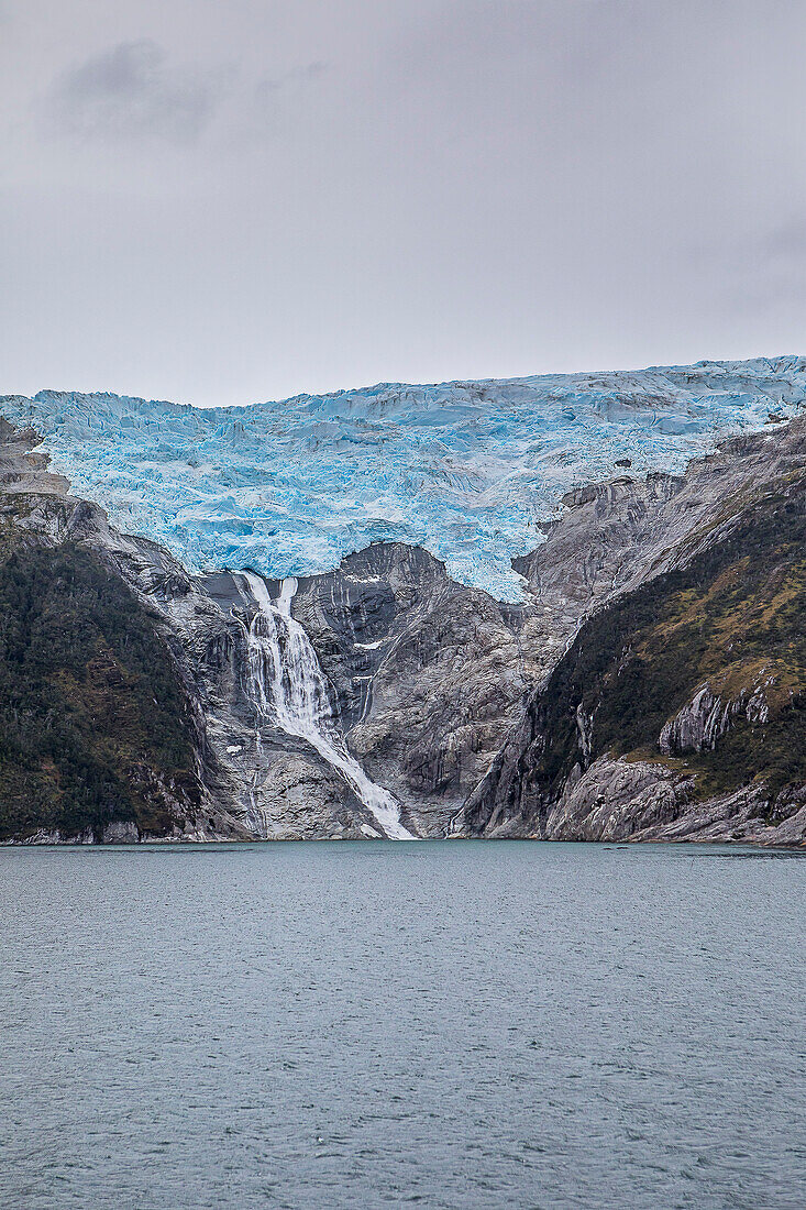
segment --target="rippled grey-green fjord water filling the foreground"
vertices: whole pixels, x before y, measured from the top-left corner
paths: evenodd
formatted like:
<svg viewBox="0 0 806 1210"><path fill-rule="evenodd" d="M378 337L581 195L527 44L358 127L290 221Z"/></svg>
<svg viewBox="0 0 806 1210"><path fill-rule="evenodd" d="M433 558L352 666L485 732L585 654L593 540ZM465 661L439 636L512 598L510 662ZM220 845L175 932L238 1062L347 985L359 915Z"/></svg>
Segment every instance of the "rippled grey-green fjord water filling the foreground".
<svg viewBox="0 0 806 1210"><path fill-rule="evenodd" d="M0 851L0 1204L802 1206L806 862Z"/></svg>

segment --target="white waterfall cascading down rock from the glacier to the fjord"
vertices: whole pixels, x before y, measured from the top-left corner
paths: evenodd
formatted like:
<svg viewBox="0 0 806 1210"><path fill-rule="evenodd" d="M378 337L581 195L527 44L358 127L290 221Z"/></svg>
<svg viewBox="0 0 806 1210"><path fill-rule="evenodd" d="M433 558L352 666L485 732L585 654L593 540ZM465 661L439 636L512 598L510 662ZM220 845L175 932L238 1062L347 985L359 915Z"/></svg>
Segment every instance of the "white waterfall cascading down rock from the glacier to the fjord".
<svg viewBox="0 0 806 1210"><path fill-rule="evenodd" d="M283 580L275 604L265 580L251 571L242 572L242 578L258 606L252 622L244 626L249 691L258 714L287 736L307 741L355 791L390 840L416 840L401 823L399 807L390 791L375 785L347 751L333 720L316 652L304 628L290 616L297 581Z"/></svg>

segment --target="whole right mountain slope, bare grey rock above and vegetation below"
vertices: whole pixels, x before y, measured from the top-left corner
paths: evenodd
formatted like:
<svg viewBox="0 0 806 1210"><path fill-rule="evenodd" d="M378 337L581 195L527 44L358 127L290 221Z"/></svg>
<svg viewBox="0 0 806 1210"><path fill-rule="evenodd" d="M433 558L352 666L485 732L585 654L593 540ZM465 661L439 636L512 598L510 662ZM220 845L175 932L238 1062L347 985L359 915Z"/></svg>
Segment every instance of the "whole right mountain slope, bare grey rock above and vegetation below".
<svg viewBox="0 0 806 1210"><path fill-rule="evenodd" d="M572 503L566 540L581 511L595 511L572 592L599 607L588 606L454 831L801 841L804 422L732 442L660 492L617 484ZM557 599L547 547L526 570Z"/></svg>

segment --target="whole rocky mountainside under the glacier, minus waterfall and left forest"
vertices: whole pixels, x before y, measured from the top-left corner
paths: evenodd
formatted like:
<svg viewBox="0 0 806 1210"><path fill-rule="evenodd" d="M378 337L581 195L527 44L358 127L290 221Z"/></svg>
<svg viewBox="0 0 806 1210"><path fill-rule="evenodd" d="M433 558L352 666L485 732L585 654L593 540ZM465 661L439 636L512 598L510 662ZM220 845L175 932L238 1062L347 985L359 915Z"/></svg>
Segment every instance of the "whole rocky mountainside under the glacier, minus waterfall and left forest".
<svg viewBox="0 0 806 1210"><path fill-rule="evenodd" d="M382 835L316 744L260 710L247 577L192 576L156 543L120 534L48 472L38 440L0 420L0 569L22 555L74 570L88 560L108 592L126 594L150 652L137 667L131 649L104 652L93 692L100 685L123 710L134 685L145 692L148 664L171 686L182 726L168 755L138 715L99 813L54 818L44 794L35 809L15 808L4 836ZM576 490L516 560L528 584L518 605L456 583L399 542L300 578L289 616L318 658L334 726L397 799L405 828L800 842L805 463L806 422L793 421L732 439L681 476ZM266 588L278 601L281 583ZM81 610L65 600L77 624ZM48 675L61 685L64 668ZM81 693L81 709L94 709ZM120 734L104 730L103 711L93 718L106 760ZM40 774L52 796L47 760Z"/></svg>

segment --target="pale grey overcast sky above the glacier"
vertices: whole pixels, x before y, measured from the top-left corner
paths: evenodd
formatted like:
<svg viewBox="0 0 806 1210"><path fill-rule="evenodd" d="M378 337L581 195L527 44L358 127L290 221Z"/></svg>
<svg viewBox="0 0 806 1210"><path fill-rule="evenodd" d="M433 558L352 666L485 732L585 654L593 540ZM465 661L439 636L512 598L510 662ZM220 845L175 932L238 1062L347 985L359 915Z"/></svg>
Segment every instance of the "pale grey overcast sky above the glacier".
<svg viewBox="0 0 806 1210"><path fill-rule="evenodd" d="M0 0L0 393L806 352L801 0Z"/></svg>

